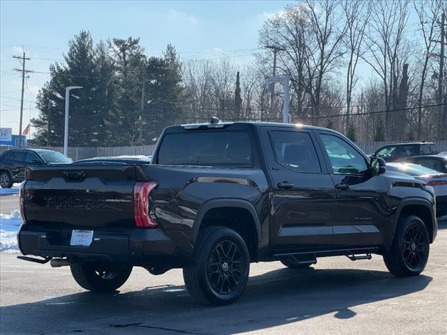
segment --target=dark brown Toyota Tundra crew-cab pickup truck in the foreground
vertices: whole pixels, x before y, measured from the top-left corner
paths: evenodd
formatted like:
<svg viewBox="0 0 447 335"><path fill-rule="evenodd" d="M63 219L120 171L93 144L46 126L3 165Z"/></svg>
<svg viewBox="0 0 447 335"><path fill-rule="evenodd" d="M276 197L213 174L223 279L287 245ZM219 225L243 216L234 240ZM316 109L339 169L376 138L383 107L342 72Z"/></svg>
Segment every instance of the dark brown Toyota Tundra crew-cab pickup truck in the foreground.
<svg viewBox="0 0 447 335"><path fill-rule="evenodd" d="M375 253L415 276L437 235L433 188L385 165L325 128L171 126L149 165L29 167L18 245L43 259L19 258L70 266L82 288L109 292L134 266L182 268L187 290L210 304L241 295L251 262L302 269Z"/></svg>

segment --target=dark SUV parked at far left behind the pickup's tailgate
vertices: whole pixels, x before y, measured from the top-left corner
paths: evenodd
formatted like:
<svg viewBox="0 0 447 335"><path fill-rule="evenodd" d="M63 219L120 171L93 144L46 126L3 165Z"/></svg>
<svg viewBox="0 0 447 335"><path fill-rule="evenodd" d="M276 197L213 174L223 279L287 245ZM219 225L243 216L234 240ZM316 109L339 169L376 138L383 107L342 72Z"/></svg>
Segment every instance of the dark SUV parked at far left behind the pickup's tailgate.
<svg viewBox="0 0 447 335"><path fill-rule="evenodd" d="M0 186L10 188L24 180L27 166L71 163L60 152L48 149L8 149L0 155Z"/></svg>

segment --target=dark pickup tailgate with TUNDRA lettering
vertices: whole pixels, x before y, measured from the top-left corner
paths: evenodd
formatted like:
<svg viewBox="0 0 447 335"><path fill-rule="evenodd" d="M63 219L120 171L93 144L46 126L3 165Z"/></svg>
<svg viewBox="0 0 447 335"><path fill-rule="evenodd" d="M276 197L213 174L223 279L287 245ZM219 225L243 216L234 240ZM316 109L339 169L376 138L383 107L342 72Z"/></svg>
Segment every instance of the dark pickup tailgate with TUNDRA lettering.
<svg viewBox="0 0 447 335"><path fill-rule="evenodd" d="M129 227L133 220L134 165L56 165L29 168L24 184L28 224Z"/></svg>

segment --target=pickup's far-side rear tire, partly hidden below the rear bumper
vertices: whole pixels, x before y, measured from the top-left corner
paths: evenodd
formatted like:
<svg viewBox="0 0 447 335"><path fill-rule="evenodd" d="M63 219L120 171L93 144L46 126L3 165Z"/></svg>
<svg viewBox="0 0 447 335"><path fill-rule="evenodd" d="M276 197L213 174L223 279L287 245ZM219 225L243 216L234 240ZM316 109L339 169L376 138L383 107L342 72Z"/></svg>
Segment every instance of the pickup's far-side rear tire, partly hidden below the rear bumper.
<svg viewBox="0 0 447 335"><path fill-rule="evenodd" d="M94 292L113 292L126 283L130 265L106 265L85 262L70 265L71 274L80 287Z"/></svg>

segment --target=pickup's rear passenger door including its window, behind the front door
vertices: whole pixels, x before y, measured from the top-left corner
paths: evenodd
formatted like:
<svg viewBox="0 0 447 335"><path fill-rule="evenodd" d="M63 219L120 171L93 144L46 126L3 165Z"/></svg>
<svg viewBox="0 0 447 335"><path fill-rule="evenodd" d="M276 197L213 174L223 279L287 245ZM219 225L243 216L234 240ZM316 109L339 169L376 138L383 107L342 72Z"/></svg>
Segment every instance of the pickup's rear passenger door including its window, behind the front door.
<svg viewBox="0 0 447 335"><path fill-rule="evenodd" d="M273 181L270 241L291 252L332 244L335 189L310 131L261 128Z"/></svg>

